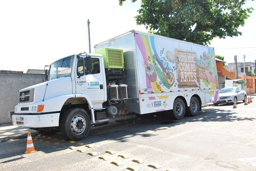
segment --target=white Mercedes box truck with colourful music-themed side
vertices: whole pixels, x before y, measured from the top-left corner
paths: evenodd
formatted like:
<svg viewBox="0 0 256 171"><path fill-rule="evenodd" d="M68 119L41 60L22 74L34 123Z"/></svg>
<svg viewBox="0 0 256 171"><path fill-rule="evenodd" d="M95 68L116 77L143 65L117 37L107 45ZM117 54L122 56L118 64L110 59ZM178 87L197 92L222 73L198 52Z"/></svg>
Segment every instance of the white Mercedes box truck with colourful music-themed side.
<svg viewBox="0 0 256 171"><path fill-rule="evenodd" d="M198 115L219 100L214 49L130 31L51 64L47 81L19 91L14 125L84 139L115 115Z"/></svg>

